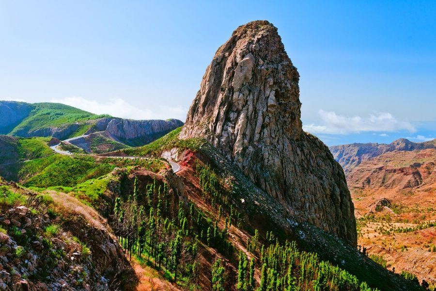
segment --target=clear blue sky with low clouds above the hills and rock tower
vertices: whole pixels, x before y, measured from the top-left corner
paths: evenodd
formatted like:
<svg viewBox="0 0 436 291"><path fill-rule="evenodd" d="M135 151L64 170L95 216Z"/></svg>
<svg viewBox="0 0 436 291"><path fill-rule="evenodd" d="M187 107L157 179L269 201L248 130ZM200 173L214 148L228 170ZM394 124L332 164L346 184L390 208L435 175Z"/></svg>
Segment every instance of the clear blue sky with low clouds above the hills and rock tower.
<svg viewBox="0 0 436 291"><path fill-rule="evenodd" d="M435 1L0 1L0 99L185 120L216 49L256 19L327 145L436 137Z"/></svg>

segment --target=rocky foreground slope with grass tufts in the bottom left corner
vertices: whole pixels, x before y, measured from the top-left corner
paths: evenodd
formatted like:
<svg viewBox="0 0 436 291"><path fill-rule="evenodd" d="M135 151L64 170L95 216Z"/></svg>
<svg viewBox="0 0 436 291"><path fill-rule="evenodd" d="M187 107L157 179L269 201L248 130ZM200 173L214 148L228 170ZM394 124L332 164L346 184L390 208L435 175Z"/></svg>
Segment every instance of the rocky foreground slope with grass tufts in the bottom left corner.
<svg viewBox="0 0 436 291"><path fill-rule="evenodd" d="M1 290L131 290L137 282L108 226L81 216L79 201L54 201L1 178L0 194Z"/></svg>

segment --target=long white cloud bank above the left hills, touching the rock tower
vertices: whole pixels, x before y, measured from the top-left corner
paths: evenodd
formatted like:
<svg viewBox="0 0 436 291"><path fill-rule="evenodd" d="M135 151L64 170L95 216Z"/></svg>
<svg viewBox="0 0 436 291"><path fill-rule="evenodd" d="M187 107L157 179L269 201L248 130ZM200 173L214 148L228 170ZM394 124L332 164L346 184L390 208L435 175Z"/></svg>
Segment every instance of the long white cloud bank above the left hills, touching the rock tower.
<svg viewBox="0 0 436 291"><path fill-rule="evenodd" d="M130 119L167 119L167 118L183 118L186 116L186 111L182 106L160 106L157 110L150 108L139 108L126 102L121 98L109 99L101 102L84 97L65 97L61 99L52 99L50 102L62 103L70 105L95 114L110 114L115 117L130 118Z"/></svg>

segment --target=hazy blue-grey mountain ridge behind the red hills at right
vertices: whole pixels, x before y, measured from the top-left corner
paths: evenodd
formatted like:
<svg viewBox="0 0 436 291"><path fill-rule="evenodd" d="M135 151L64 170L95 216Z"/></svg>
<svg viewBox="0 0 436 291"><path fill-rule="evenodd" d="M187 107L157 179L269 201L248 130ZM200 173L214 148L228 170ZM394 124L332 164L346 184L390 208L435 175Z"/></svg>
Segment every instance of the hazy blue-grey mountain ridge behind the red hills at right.
<svg viewBox="0 0 436 291"><path fill-rule="evenodd" d="M405 138L400 138L388 144L348 144L340 146L330 146L329 149L333 157L343 167L345 174L348 174L360 162L380 156L390 151L411 151L415 149L436 148L436 139L423 143L413 143Z"/></svg>

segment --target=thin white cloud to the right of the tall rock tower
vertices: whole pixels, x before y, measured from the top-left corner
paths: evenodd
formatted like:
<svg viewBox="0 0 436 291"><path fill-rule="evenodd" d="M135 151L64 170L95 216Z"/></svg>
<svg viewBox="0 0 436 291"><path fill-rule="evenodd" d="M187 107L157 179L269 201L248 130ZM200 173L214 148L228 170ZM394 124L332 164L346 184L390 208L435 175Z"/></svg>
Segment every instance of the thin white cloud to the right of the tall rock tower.
<svg viewBox="0 0 436 291"><path fill-rule="evenodd" d="M407 121L399 121L390 113L369 114L368 117L345 116L334 112L319 110L322 124L303 126L311 133L348 134L361 131L397 131L407 130L415 132L415 127Z"/></svg>

